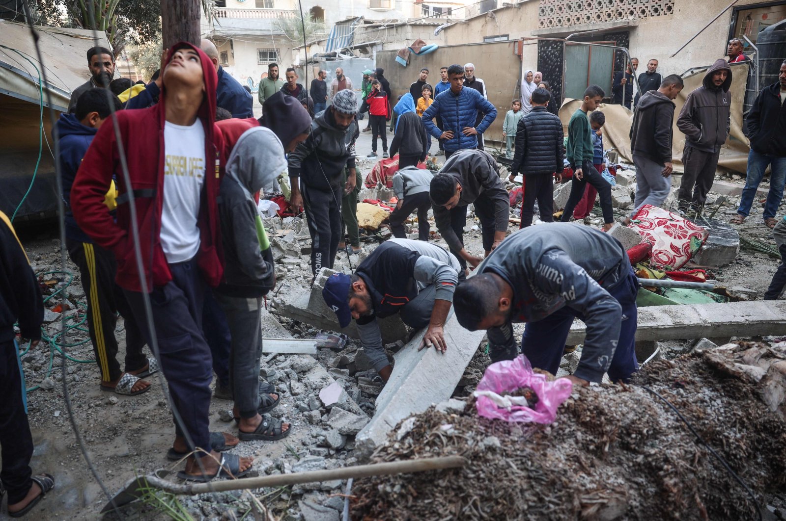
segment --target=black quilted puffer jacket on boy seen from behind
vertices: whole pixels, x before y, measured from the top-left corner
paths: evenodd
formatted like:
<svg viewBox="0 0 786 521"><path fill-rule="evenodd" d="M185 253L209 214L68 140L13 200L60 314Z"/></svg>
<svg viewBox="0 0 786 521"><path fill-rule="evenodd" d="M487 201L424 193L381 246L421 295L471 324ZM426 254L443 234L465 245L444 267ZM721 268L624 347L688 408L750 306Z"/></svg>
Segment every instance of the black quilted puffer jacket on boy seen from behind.
<svg viewBox="0 0 786 521"><path fill-rule="evenodd" d="M560 118L545 107L532 107L516 128L511 173L562 173L564 132Z"/></svg>

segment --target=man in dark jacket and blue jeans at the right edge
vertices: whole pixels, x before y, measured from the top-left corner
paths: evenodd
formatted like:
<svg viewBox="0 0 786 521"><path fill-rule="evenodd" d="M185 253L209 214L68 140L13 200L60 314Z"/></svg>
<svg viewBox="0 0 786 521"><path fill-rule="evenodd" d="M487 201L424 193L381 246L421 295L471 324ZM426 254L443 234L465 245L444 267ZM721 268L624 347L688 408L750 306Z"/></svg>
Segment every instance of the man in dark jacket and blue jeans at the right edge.
<svg viewBox="0 0 786 521"><path fill-rule="evenodd" d="M769 228L776 223L776 213L783 199L786 184L786 60L780 64L778 82L762 89L747 113L747 137L751 151L747 155L747 176L740 199L740 208L733 217L734 224L741 224L751 213L758 184L769 165L769 193L764 205L764 222Z"/></svg>

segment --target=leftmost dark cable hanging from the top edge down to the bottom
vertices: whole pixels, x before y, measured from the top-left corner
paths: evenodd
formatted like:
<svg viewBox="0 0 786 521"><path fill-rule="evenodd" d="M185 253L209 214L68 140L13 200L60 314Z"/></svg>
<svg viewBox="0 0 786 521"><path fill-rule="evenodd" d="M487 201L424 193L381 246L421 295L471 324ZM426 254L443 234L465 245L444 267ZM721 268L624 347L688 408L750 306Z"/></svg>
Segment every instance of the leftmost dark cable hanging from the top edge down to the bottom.
<svg viewBox="0 0 786 521"><path fill-rule="evenodd" d="M35 46L35 54L39 60L39 64L41 64L41 78L39 78L39 82L46 83L49 85L49 82L46 80L46 67L43 66L43 55L41 53L41 46L39 42L39 34L35 31L35 27L33 26L33 17L31 15L30 3L29 0L23 0L22 6L24 8L24 16L26 18L28 27L30 28L30 33L33 38L33 45ZM50 120L52 124L52 129L54 132L54 155L56 158L60 157L60 140L57 136L57 115L55 114L54 104L52 101L52 93L50 89L46 89L46 103L49 105L49 113L50 113ZM63 193L63 179L60 173L60 161L57 160L54 162L55 167L55 180L57 184L57 192L62 194ZM60 261L61 266L65 266L65 205L62 197L57 197L57 215L60 217L59 224L60 224ZM65 314L61 316L61 323L63 326L63 330L65 330ZM79 427L76 424L76 419L74 417L74 411L72 410L71 405L71 394L68 392L68 382L67 376L68 373L66 372L66 364L65 364L65 356L61 355L61 381L63 384L63 399L65 402L66 410L68 410L68 421L71 423L71 428L74 432L74 437L76 438L76 442L79 444L79 450L82 452L82 456L85 458L85 462L87 464L87 468L90 468L90 473L93 474L93 477L96 479L98 486L101 487L101 491L104 495L108 498L108 500L112 503L112 508L114 508L118 517L120 517L120 512L117 508L117 505L114 501L114 498L111 494L109 494L109 490L107 489L103 480L101 480L101 476L98 475L98 471L93 465L93 461L90 460L90 455L87 454L87 447L82 439L82 434L79 432Z"/></svg>

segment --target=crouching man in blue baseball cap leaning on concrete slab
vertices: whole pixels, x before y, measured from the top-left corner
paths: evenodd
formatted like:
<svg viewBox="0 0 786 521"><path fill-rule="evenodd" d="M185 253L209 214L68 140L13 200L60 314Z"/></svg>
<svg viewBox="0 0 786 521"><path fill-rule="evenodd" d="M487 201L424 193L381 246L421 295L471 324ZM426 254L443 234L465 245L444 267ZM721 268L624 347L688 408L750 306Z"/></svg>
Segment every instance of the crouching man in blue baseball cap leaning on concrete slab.
<svg viewBox="0 0 786 521"><path fill-rule="evenodd" d="M374 369L387 381L393 370L382 346L377 317L401 314L413 328L428 326L424 347L445 352L443 326L450 312L453 293L462 273L454 255L429 242L389 239L360 263L354 275L331 275L322 298L339 319L341 327L358 322L360 342Z"/></svg>

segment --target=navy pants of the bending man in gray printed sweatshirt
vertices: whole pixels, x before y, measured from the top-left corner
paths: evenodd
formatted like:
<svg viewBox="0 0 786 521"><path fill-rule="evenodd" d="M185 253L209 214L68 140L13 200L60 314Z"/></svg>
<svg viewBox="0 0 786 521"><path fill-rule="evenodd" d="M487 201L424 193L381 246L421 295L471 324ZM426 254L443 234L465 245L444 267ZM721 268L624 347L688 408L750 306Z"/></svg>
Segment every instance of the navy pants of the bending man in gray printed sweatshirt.
<svg viewBox="0 0 786 521"><path fill-rule="evenodd" d="M608 290L623 308L623 324L619 330L619 343L608 368L611 381L627 381L638 370L636 360L636 293L638 279L633 268L628 276L617 286ZM556 374L560 369L560 359L570 333L573 319L584 320L584 315L565 306L538 322L527 322L521 338L521 352L527 356L533 367Z"/></svg>

